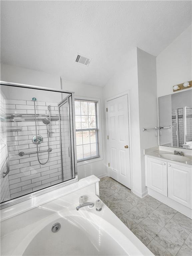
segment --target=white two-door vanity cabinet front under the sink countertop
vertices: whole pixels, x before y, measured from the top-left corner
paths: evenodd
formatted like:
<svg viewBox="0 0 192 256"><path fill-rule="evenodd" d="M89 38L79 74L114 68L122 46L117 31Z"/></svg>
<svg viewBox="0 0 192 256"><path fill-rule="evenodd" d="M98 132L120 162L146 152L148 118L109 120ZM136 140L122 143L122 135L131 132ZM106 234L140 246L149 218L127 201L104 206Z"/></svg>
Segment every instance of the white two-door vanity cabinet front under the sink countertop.
<svg viewBox="0 0 192 256"><path fill-rule="evenodd" d="M177 211L192 214L192 166L145 156L148 194Z"/></svg>

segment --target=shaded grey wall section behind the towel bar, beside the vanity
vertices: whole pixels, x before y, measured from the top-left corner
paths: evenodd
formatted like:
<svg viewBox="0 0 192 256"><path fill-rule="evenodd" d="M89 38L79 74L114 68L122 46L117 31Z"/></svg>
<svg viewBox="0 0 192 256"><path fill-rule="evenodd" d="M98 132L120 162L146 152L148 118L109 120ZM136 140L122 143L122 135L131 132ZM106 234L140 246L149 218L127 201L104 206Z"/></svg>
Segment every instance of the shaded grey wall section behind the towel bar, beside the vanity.
<svg viewBox="0 0 192 256"><path fill-rule="evenodd" d="M142 193L145 186L144 149L158 146L155 130L142 131L143 128L153 128L158 125L157 114L157 76L156 57L137 48L137 72L139 92L139 127L141 152L141 182Z"/></svg>

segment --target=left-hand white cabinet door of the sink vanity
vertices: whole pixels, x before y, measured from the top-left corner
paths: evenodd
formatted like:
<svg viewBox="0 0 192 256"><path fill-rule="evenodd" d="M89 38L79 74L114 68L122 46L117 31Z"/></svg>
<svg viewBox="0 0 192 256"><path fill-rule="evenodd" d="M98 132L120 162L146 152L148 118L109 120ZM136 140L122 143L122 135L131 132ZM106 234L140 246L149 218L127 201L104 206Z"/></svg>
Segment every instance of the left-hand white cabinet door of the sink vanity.
<svg viewBox="0 0 192 256"><path fill-rule="evenodd" d="M167 196L167 162L148 157L148 187Z"/></svg>

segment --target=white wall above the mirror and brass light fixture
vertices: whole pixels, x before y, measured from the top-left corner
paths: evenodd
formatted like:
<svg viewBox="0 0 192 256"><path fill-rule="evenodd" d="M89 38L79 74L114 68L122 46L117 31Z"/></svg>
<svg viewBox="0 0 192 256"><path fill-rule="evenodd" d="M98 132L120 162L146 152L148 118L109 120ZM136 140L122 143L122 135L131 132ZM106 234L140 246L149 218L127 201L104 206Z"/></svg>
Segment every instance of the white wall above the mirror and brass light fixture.
<svg viewBox="0 0 192 256"><path fill-rule="evenodd" d="M173 85L192 80L191 26L157 56L157 96L173 93Z"/></svg>

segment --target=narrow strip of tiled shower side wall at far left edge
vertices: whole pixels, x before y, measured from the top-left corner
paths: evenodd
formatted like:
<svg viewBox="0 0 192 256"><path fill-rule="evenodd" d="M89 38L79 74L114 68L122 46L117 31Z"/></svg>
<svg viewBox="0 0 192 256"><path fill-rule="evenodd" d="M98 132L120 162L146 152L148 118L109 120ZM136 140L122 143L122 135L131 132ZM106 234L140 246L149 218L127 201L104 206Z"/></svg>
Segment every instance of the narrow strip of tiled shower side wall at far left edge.
<svg viewBox="0 0 192 256"><path fill-rule="evenodd" d="M5 130L5 110L4 97L0 94L0 195L1 202L11 199L9 191L9 175L3 178L3 172L7 172L8 168L8 149L7 149L7 135Z"/></svg>

